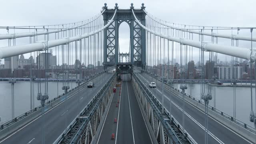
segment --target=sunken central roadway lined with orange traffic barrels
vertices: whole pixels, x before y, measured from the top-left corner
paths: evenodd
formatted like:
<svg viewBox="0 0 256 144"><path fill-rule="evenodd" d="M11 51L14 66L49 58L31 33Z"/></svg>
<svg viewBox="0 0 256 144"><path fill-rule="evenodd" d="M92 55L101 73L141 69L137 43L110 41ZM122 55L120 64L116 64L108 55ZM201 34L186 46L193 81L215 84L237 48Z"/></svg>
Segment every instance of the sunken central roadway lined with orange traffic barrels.
<svg viewBox="0 0 256 144"><path fill-rule="evenodd" d="M130 76L125 74L122 78L121 96L118 88L111 101L97 144L152 144ZM117 108L118 99L120 103ZM117 123L114 122L114 118L117 118ZM115 140L111 140L112 133L115 134Z"/></svg>

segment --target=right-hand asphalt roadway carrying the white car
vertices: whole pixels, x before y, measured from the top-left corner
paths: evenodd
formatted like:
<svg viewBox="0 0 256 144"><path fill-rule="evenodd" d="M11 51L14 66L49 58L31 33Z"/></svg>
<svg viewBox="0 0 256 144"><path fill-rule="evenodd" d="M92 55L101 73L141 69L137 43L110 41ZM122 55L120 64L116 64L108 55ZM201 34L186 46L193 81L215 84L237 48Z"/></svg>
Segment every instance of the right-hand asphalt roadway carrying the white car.
<svg viewBox="0 0 256 144"><path fill-rule="evenodd" d="M152 77L145 73L136 73L140 80L148 86L150 81L156 82ZM156 98L162 102L162 85L157 83L156 88L149 88L149 90L156 96ZM170 99L172 103L170 103ZM172 116L182 125L182 98L174 95L172 92L164 88L164 107L170 112ZM171 109L170 109L171 108ZM198 142L198 144L204 144L204 112L198 108L185 102L185 130ZM227 126L224 126L220 122L216 121L211 116L208 117L208 143L209 144L253 144L246 138L242 137L237 132L234 132Z"/></svg>

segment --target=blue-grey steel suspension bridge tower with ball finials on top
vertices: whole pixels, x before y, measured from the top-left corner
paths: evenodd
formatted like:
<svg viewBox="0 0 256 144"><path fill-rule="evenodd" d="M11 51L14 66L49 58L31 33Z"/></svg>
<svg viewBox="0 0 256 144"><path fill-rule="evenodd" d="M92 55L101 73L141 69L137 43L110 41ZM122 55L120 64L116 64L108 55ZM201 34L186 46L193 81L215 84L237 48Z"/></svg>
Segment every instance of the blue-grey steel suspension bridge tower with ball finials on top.
<svg viewBox="0 0 256 144"><path fill-rule="evenodd" d="M144 12L144 4L141 8L134 9L131 4L129 9L119 9L118 4L114 9L109 9L107 4L104 4L102 8L104 11L104 25L108 24L111 20L115 10L116 15L111 24L104 29L104 66L116 65L116 72L118 73L131 73L132 66L138 66L142 69L146 66L146 31L136 22L132 10L134 10L135 16L138 18L140 23L146 24L146 13ZM130 26L130 62L120 62L119 58L119 44L118 44L118 28L122 22L127 22Z"/></svg>

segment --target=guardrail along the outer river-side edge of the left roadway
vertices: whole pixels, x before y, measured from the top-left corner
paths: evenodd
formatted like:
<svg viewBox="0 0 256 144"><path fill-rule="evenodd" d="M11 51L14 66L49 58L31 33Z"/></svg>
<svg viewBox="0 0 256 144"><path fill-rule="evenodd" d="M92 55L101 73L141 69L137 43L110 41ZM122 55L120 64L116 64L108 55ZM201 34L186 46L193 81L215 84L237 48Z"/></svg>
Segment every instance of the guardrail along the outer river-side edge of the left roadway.
<svg viewBox="0 0 256 144"><path fill-rule="evenodd" d="M114 67L113 67L114 68ZM113 68L110 68L108 70L111 70ZM84 83L81 84L81 86L84 86L85 84L87 84L87 82L98 78L99 76L101 76L102 74L104 74L105 72L101 72L98 74L98 76L94 76L92 78L90 78L89 80L85 81ZM70 92L76 90L76 88L78 88L78 86L76 86L75 88L72 88L71 90L68 91L68 94L70 94ZM65 94L61 94L55 98L53 98L52 100L49 100L48 102L45 103L45 112L50 110L50 108L47 108L49 105L51 105L52 103L56 102L57 100L60 100ZM62 101L60 101L62 102ZM59 102L58 102L59 103ZM38 112L38 110L40 110L42 108L42 105L37 106L36 108L33 108L32 110L29 110L28 112L25 112L24 114L21 114L20 116L17 116L16 118L13 118L12 120L9 120L8 122L5 122L4 124L0 125L0 131L4 130L5 128L11 126L12 124L19 122L20 120L23 120L24 118L26 118L27 116L30 116L31 114ZM39 111L40 112L40 111ZM0 137L1 139L1 137Z"/></svg>

